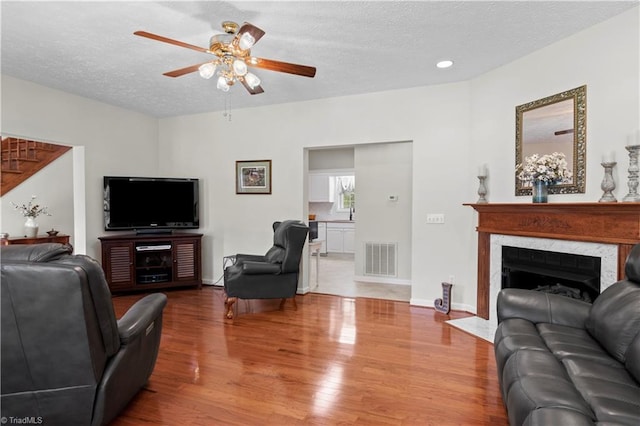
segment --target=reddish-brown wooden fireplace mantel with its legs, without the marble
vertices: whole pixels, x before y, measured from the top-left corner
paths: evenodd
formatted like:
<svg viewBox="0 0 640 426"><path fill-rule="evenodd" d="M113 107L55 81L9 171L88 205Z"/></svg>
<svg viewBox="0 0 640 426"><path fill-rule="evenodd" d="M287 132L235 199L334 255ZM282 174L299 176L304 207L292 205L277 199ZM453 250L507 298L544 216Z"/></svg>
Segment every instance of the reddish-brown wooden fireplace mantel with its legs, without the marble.
<svg viewBox="0 0 640 426"><path fill-rule="evenodd" d="M587 241L618 246L618 279L640 243L640 203L465 204L478 212L477 315L489 318L491 234Z"/></svg>

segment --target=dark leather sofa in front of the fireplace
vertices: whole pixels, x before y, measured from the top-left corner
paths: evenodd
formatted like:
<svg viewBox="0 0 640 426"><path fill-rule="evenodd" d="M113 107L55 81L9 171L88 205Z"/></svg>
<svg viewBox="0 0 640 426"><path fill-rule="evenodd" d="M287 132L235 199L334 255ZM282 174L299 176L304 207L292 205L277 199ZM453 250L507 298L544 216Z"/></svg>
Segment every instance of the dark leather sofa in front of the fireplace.
<svg viewBox="0 0 640 426"><path fill-rule="evenodd" d="M589 304L498 294L494 349L511 425L640 425L640 244Z"/></svg>

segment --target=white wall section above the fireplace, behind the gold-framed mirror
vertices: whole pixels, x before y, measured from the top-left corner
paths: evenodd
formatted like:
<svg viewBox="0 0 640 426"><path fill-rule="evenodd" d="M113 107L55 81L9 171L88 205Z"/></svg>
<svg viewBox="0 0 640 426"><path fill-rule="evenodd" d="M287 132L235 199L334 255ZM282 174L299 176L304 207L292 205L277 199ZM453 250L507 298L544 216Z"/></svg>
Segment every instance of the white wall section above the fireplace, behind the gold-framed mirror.
<svg viewBox="0 0 640 426"><path fill-rule="evenodd" d="M586 193L551 195L550 202L597 201L603 153L615 151L614 194L629 188L627 135L639 127L640 8L623 13L518 61L474 79L473 163L487 163L489 201L530 202L515 197L515 106L578 86L587 86Z"/></svg>

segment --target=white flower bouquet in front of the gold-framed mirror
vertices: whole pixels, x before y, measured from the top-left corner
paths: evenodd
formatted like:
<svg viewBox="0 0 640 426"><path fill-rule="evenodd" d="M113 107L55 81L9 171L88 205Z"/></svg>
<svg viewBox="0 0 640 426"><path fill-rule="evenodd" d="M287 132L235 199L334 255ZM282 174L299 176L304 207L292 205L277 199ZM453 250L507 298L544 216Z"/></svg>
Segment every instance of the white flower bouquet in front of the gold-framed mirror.
<svg viewBox="0 0 640 426"><path fill-rule="evenodd" d="M518 179L531 183L536 181L548 184L567 183L571 182L573 177L562 152L542 156L533 154L524 159L524 164L518 164L516 171L519 171Z"/></svg>

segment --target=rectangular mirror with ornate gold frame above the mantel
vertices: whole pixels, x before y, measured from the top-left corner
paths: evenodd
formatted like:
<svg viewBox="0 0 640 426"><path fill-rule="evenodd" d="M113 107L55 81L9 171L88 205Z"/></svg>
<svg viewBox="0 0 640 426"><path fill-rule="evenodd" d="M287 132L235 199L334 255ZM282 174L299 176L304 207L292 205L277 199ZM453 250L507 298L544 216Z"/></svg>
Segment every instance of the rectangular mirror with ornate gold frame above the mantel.
<svg viewBox="0 0 640 426"><path fill-rule="evenodd" d="M571 171L568 182L549 186L550 194L585 192L587 86L576 87L516 107L515 193L531 195L531 182L518 178L527 157L563 153Z"/></svg>

